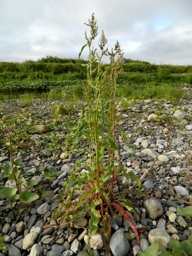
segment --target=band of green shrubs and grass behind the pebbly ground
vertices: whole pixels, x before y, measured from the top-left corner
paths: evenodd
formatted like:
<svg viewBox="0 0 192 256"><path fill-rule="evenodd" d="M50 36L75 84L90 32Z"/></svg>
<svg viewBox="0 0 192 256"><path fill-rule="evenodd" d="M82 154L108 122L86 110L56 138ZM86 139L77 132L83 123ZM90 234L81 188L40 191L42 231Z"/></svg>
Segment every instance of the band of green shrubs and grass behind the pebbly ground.
<svg viewBox="0 0 192 256"><path fill-rule="evenodd" d="M76 97L83 97L87 64L88 60L57 56L22 63L0 62L0 100L18 98L20 92L36 92L39 95L55 88L70 88ZM96 65L97 61L92 64L93 70L96 70ZM109 65L102 63L101 70L106 68L109 69ZM182 91L178 90L179 86L192 84L192 65L156 65L123 58L120 68L122 72L117 79L117 96L134 99L180 98ZM96 71L92 75L95 77Z"/></svg>

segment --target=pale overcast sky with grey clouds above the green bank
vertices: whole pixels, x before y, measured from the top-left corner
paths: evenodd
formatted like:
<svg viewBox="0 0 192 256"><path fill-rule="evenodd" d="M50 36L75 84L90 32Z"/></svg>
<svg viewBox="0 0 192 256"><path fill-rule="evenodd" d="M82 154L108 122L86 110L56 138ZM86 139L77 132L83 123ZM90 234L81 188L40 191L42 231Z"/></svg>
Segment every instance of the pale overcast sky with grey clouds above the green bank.
<svg viewBox="0 0 192 256"><path fill-rule="evenodd" d="M125 58L192 65L192 0L0 0L0 61L77 58L93 12Z"/></svg>

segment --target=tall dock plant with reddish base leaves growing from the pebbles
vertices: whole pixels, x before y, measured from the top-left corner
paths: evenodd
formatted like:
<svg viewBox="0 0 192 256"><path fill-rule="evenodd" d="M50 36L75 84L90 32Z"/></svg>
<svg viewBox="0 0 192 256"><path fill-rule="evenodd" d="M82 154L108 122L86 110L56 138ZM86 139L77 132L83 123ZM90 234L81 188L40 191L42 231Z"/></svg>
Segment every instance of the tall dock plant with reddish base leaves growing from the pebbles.
<svg viewBox="0 0 192 256"><path fill-rule="evenodd" d="M79 140L88 140L90 160L85 160L84 158L73 166L71 177L63 184L65 191L58 199L65 199L65 201L60 204L59 210L56 209L53 212L52 216L56 216L60 220L60 225L63 228L65 226L72 227L75 219L89 214L88 251L90 255L94 255L90 248L90 238L97 232L97 225L102 221L103 229L101 234L106 255L111 255L109 247L111 236L110 220L113 218L114 209L118 210L119 214L128 220L139 243L138 232L130 220L130 217L133 218L133 216L122 207L124 206L127 210L134 211L133 205L123 195L118 200L115 197L115 202L113 194L113 182L118 173L114 166L118 154L118 147L115 143L115 130L117 128L115 108L116 81L118 74L121 73L120 66L123 60L123 53L118 41L111 52L108 51L108 48L105 47L107 39L102 31L98 42L101 51L99 55L97 49L92 48L92 43L98 35L98 26L96 26L94 13L86 25L90 27L90 37L85 32L87 43L79 53L80 58L84 48L88 47L89 63L83 64L87 68L87 83L84 84L86 104L82 107L82 116L71 133L66 136L62 148L69 152L82 152L83 149L77 149L77 143ZM104 55L109 57L110 64L103 69L102 58ZM121 132L125 142L127 142L125 132ZM106 149L108 150L107 165L104 164L104 151ZM86 168L85 172L79 172L82 167ZM132 172L129 174L125 172L125 175L128 179L129 177L134 178ZM110 185L109 179L111 177L112 183ZM137 178L139 179L139 177ZM76 185L69 186L73 181ZM141 186L140 182L140 189Z"/></svg>

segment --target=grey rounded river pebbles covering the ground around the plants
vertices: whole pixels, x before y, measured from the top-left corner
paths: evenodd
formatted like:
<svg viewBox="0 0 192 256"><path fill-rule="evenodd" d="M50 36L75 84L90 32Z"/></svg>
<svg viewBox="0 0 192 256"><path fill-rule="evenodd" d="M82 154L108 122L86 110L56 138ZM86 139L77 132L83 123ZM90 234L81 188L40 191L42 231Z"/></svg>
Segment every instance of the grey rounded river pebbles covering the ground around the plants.
<svg viewBox="0 0 192 256"><path fill-rule="evenodd" d="M188 89L189 90L189 89ZM82 218L78 223L74 223L73 229L60 229L42 227L48 223L49 225L58 226L59 221L51 219L51 213L55 208L59 207L59 202L54 201L64 190L63 183L70 177L70 171L77 160L84 157L85 153L62 154L57 152L55 159L51 158L52 154L47 151L46 143L49 139L38 144L37 137L43 140L46 129L52 132L58 138L58 144L63 142L63 134L67 133L67 128L70 122L79 118L79 111L74 111L65 117L60 117L61 122L53 121L53 101L36 99L32 106L24 106L22 100L17 100L15 106L12 101L5 100L0 103L0 120L8 120L20 115L30 121L32 125L42 125L39 129L41 133L32 134L29 139L29 145L34 145L34 148L26 148L24 154L15 154L14 158L22 161L22 176L25 180L31 179L31 170L38 169L36 173L37 179L42 181L42 171L49 171L52 167L57 171L54 181L49 181L46 185L46 194L43 194L39 200L33 202L30 208L22 216L21 220L15 221L12 211L5 210L5 206L9 203L7 200L0 197L0 235L5 238L4 247L10 246L9 255L89 255L87 252L87 227L88 220ZM62 104L61 101L58 103ZM192 174L192 163L187 162L186 153L192 139L192 101L181 100L179 110L173 109L173 104L162 99L158 102L145 100L137 102L125 112L121 109L120 101L117 99L118 113L123 114L120 117L119 127L123 129L129 138L129 144L135 147L135 152L128 148L123 141L121 134L117 132L119 139L122 158L121 165L125 167L127 172L134 172L134 175L142 179L143 193L147 193L158 200L148 197L140 197L129 195L129 199L134 201L135 211L139 215L139 220L132 219L133 224L138 230L142 230L144 239L141 241L141 249L145 249L151 243L159 241L168 247L169 238L178 241L187 239L192 234L192 226L189 220L182 216L177 216L177 207L190 207L192 204L192 189L186 177L183 177L180 172L187 171ZM80 102L83 104L83 102ZM163 126L162 123L155 121L157 111L166 113L167 115L177 116L181 122L174 123L170 132L170 124ZM129 112L129 113L128 113ZM188 118L187 118L188 117ZM183 129L179 126L183 124ZM143 126L143 130L139 127ZM69 127L70 128L70 127ZM22 129L22 128L21 128ZM135 129L135 130L134 130ZM169 145L167 147L167 139L169 137ZM51 136L53 136L53 134ZM1 130L0 139L5 136ZM85 148L88 152L88 145L80 142L80 148ZM3 155L3 153L5 153ZM189 152L188 152L189 153ZM0 163L5 165L10 160L10 154L7 148L0 143ZM88 153L86 153L88 155ZM106 153L107 154L107 153ZM131 156L131 157L130 157ZM104 164L107 161L105 155ZM177 166L177 168L176 168ZM153 170L153 172L149 172ZM148 170L148 172L146 172ZM179 172L180 171L180 172ZM0 172L0 181L6 182L6 186L10 186L10 181L3 176L3 170ZM119 181L121 191L131 189L135 183L133 180L127 181L120 174ZM70 184L74 185L74 184ZM168 185L172 189L168 189ZM0 186L0 190L2 186ZM137 187L134 189L137 190ZM118 192L117 182L114 184L114 191ZM174 192L174 193L173 193ZM18 205L18 208L22 205ZM18 218L17 218L18 219ZM80 225L81 227L79 228ZM123 220L116 214L111 221L112 237L110 240L110 249L113 255L137 255L140 247L137 245L136 239L127 240L123 233L131 234L129 223ZM101 226L99 226L101 228ZM102 237L99 233L95 234L91 239L91 247L95 255L105 255ZM6 253L0 252L0 256Z"/></svg>

